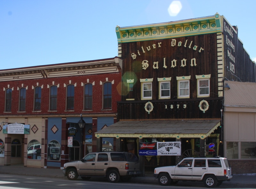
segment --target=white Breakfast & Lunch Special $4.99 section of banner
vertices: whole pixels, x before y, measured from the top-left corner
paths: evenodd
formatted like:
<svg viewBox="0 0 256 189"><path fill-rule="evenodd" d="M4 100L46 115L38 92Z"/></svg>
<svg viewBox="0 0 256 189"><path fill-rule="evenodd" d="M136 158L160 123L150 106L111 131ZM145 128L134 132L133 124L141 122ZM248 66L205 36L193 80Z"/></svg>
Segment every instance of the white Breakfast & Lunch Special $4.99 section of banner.
<svg viewBox="0 0 256 189"><path fill-rule="evenodd" d="M157 142L157 155L181 155L180 142Z"/></svg>

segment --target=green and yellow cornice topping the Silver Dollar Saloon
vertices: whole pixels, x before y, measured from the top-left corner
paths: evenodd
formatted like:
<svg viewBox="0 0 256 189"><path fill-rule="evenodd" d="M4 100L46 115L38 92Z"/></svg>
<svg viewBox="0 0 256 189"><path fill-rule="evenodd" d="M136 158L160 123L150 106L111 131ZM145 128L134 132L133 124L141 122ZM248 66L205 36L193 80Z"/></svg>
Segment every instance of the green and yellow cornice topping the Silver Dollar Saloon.
<svg viewBox="0 0 256 189"><path fill-rule="evenodd" d="M223 16L213 16L132 27L116 26L118 43L167 39L221 32Z"/></svg>

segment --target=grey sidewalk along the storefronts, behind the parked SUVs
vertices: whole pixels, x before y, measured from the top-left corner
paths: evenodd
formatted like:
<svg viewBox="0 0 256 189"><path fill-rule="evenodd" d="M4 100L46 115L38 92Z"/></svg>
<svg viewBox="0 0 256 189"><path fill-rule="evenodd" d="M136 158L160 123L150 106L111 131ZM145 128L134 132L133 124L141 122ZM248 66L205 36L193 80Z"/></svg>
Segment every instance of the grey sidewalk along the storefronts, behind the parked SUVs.
<svg viewBox="0 0 256 189"><path fill-rule="evenodd" d="M62 173L62 169L44 169L44 168L31 168L24 167L23 165L11 165L11 166L0 166L0 174L11 174L11 175L27 175L27 176L39 176L39 177L57 177L67 179ZM92 177L93 179L93 177ZM97 178L101 179L101 178ZM133 177L131 182L136 183L155 183L157 179L152 174L146 174L145 177ZM178 185L203 185L202 182L178 182ZM242 188L256 188L256 174L243 174L234 175L230 181L225 181L220 187L242 187Z"/></svg>

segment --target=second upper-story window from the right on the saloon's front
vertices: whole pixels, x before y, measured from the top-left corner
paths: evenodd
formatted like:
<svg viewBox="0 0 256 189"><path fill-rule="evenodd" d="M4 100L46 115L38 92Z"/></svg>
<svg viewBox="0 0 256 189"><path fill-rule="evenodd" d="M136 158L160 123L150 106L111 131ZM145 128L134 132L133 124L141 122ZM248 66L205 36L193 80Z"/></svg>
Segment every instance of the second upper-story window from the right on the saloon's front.
<svg viewBox="0 0 256 189"><path fill-rule="evenodd" d="M176 77L178 80L178 98L189 98L190 76Z"/></svg>

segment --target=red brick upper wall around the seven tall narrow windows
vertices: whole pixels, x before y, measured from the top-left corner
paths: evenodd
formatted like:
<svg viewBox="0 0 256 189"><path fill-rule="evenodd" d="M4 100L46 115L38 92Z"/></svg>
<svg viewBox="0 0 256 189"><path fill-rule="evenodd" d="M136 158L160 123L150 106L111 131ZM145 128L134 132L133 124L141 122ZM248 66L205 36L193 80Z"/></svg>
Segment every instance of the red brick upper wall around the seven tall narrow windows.
<svg viewBox="0 0 256 189"><path fill-rule="evenodd" d="M106 82L106 78L108 78L109 82L114 80L114 84L112 84L112 110L106 111L102 110L102 88L103 85L100 85L100 81L102 83ZM92 86L92 111L84 111L84 86L81 86L81 83L87 83L87 79L89 79L89 83L95 82L95 85ZM74 111L67 112L66 109L66 87L64 87L64 83L66 85L69 84L69 80L71 80L71 84L76 83L75 87L75 103L74 103ZM0 114L4 116L8 115L31 115L31 114L49 114L49 88L47 85L52 85L54 81L54 85L60 84L57 93L57 112L50 112L51 114L107 114L107 113L116 113L117 112L117 101L121 100L121 96L119 94L118 86L120 86L121 82L121 73L113 73L113 74L98 74L98 75L87 75L87 76L71 76L71 77L59 77L59 78L44 78L44 79L35 79L35 80L22 80L22 81L6 81L0 82ZM33 112L34 110L34 89L32 89L32 85L36 87L36 83L38 86L43 86L42 95L41 95L41 112ZM11 113L4 113L5 106L5 91L4 88L7 89L9 84L9 88L14 88L12 91L12 111ZM26 112L21 113L19 111L19 91L17 87L21 88L28 86L28 90L26 90ZM119 89L120 90L120 89Z"/></svg>

